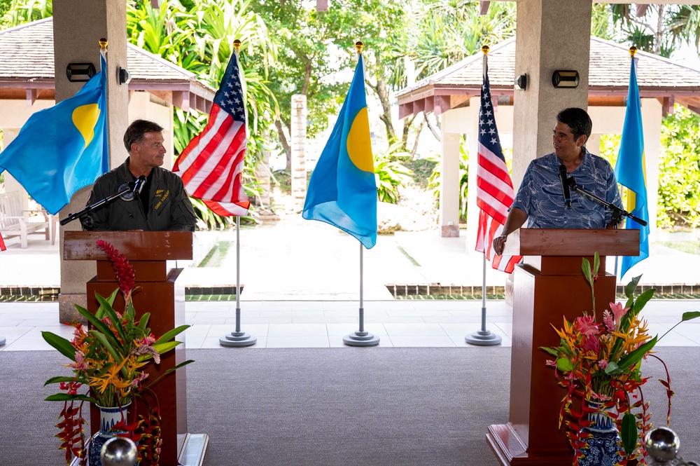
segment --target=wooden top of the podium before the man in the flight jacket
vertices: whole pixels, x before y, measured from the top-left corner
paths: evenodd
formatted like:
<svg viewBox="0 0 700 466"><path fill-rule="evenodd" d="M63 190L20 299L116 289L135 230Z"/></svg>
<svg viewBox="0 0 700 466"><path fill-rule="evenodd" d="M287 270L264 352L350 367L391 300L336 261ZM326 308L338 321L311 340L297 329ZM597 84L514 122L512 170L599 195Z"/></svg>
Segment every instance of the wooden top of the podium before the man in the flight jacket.
<svg viewBox="0 0 700 466"><path fill-rule="evenodd" d="M130 261L172 261L192 259L191 231L66 231L63 259L66 261L106 260L97 240L109 242Z"/></svg>

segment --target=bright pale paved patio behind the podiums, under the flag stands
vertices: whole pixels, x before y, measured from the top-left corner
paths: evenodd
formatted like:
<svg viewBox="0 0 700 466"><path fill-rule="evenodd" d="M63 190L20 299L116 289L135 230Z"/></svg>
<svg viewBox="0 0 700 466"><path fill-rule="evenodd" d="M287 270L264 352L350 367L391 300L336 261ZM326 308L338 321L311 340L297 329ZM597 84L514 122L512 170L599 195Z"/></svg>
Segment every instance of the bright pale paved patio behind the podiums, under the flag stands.
<svg viewBox="0 0 700 466"><path fill-rule="evenodd" d="M219 239L235 239L225 235ZM12 241L0 252L0 284L59 285L57 246L36 237L22 250ZM435 231L379 237L377 246L363 252L365 330L379 336L380 346L471 347L464 337L481 329L481 301L395 300L385 285L480 285L482 255L472 249L465 238L440 238ZM216 267L186 268L181 280L235 284L234 258ZM612 263L609 259L608 270ZM652 256L630 275L639 274L642 284L697 284L700 257L652 248ZM257 338L249 348L343 346L342 337L358 330L359 278L358 242L335 228L300 219L242 228L241 330ZM486 283L503 286L505 275L489 268ZM486 329L510 345L512 309L504 301L488 301L486 307ZM694 310L700 310L700 301L656 300L643 315L650 332L660 336ZM186 323L192 325L188 348L220 348L218 339L235 330L235 301L187 301ZM43 330L70 336L72 327L58 322L57 303L0 303L0 336L7 340L0 350L48 350ZM659 344L700 345L700 321L680 324Z"/></svg>

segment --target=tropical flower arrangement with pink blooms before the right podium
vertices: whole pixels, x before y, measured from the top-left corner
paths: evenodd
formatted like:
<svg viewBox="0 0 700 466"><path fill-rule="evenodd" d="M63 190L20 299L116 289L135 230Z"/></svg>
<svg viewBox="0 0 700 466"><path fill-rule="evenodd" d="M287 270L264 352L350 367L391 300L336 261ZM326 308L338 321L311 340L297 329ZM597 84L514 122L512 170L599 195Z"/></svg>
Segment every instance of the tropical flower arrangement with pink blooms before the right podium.
<svg viewBox="0 0 700 466"><path fill-rule="evenodd" d="M552 326L560 338L560 344L542 348L556 358L548 360L547 365L554 367L559 385L566 388L559 413L559 427L565 413L573 418L566 423L570 430L568 439L574 449L573 464L577 465L579 458L583 457L583 449L587 448L585 440L591 435L582 430L591 424L584 417L596 411L589 406L587 400L598 402L605 408L615 408L614 411L617 412L610 413L610 417L615 420L622 439L622 451L619 453L624 453L623 462L619 464L626 464L633 459L643 464L646 452L640 439L651 428L651 415L649 403L644 402L641 390L647 381L641 374L641 362L648 356L659 361L661 359L652 355L652 349L660 338L650 336L647 322L639 314L655 290L649 289L634 299L633 293L641 275L634 277L624 289L627 297L625 306L622 303L610 303L610 310L603 313L603 322L596 322L594 282L598 277L599 266L597 252L592 267L587 259L582 261L584 276L591 287L594 306L592 315L584 312L573 322L568 322L565 318L561 329ZM684 313L680 322L699 316L698 312ZM672 329L673 327L668 331ZM668 381L668 371L666 376L667 380L660 382L666 387L668 395L668 424L673 392ZM580 397L580 410L572 407L575 397Z"/></svg>

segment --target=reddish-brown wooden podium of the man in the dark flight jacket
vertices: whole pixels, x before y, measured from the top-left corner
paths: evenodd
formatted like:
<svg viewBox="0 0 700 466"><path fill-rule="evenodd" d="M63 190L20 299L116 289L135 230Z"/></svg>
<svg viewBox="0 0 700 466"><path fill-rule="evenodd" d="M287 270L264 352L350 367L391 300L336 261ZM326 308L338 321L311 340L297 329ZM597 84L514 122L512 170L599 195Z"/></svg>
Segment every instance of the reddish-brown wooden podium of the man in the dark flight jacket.
<svg viewBox="0 0 700 466"><path fill-rule="evenodd" d="M137 291L133 294L137 318L151 313L148 327L158 337L165 332L185 324L185 288L177 285L181 268L169 268L167 261L192 259L193 233L189 231L66 231L64 237L64 260L97 261L97 276L87 282L87 310L95 313L99 308L94 294L107 297L118 288L116 275L107 255L97 247L97 240L104 240L124 254L136 278ZM116 310L124 309L124 297L118 293L114 302ZM167 352L160 364L151 362L146 366L150 380L155 380L165 371L185 362L184 334L176 337L183 344ZM201 464L207 446L204 434L190 435L187 432L186 369L181 367L162 378L153 386L160 406L162 448L160 465L185 464L182 458L190 458L187 465ZM139 413L146 414L146 406L138 406ZM99 411L90 411L92 433L99 427ZM190 462L201 450L201 460Z"/></svg>

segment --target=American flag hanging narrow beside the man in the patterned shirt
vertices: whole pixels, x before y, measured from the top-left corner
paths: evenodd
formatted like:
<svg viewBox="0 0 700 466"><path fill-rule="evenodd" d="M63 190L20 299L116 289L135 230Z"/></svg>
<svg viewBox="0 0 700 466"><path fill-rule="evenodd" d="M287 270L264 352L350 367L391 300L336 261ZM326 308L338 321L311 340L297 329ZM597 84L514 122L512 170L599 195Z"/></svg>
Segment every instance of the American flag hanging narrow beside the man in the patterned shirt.
<svg viewBox="0 0 700 466"><path fill-rule="evenodd" d="M484 56L484 60L486 57ZM491 260L493 238L503 231L508 208L513 203L515 191L505 165L503 149L500 147L496 118L491 103L489 67L484 65L484 83L479 107L479 158L477 160L477 206L479 207L478 252ZM493 254L491 266L512 273L521 256L498 256Z"/></svg>

